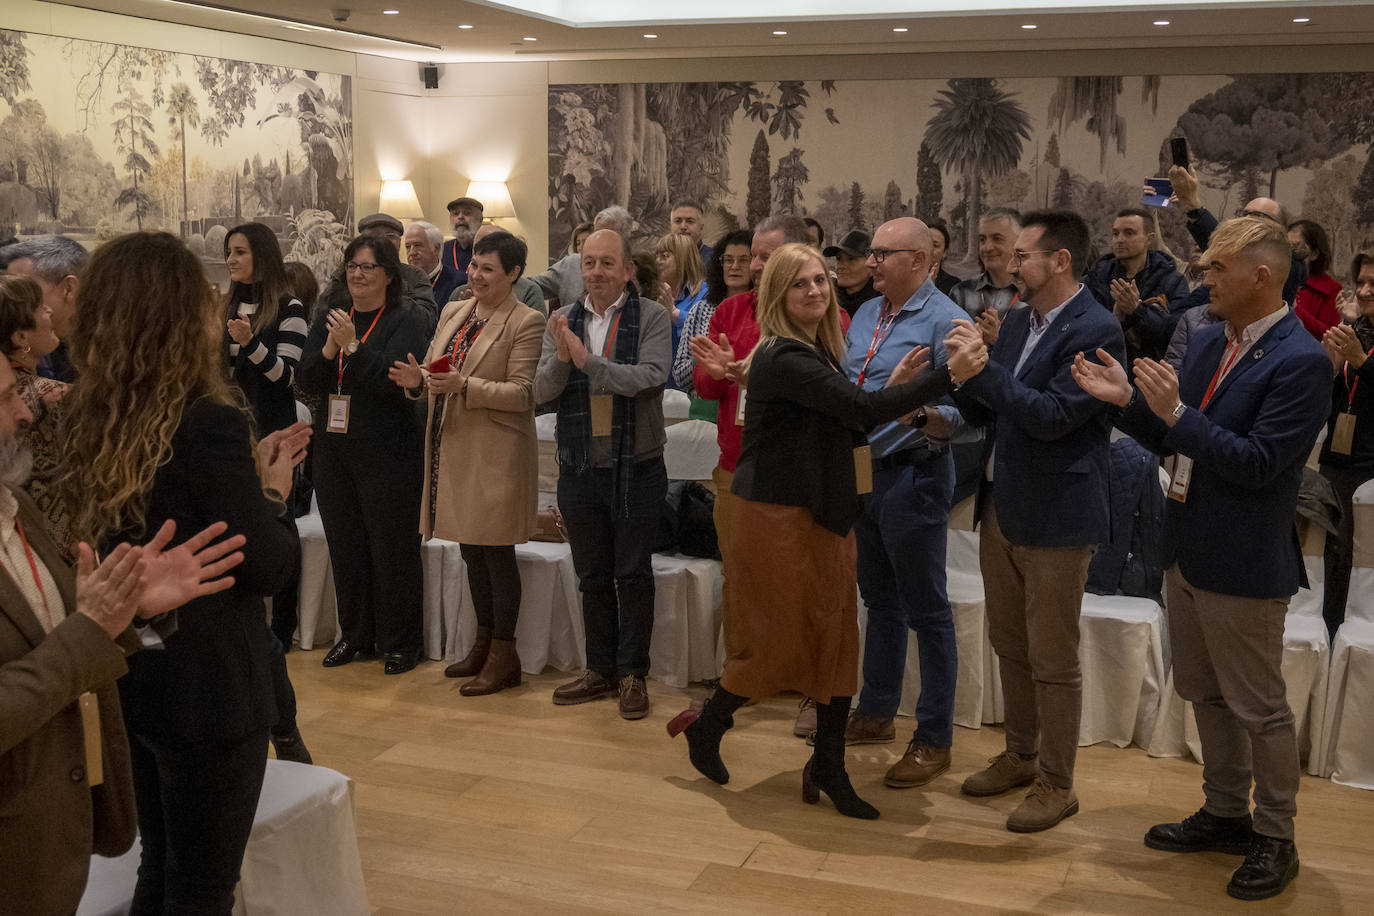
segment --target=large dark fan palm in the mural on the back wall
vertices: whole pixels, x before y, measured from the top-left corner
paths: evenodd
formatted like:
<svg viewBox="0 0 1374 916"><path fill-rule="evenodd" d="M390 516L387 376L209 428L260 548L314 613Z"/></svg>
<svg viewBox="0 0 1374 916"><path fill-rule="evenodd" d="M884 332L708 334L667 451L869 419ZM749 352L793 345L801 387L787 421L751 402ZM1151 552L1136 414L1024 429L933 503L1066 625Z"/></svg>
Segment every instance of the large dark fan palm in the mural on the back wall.
<svg viewBox="0 0 1374 916"><path fill-rule="evenodd" d="M1030 115L1014 92L987 77L949 80L948 88L936 93L934 108L925 141L945 172L963 176L967 250L976 251L982 179L1017 166L1022 143L1030 139Z"/></svg>

